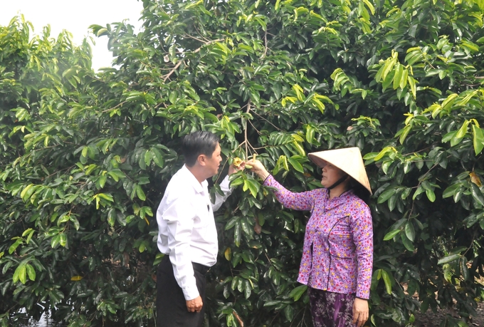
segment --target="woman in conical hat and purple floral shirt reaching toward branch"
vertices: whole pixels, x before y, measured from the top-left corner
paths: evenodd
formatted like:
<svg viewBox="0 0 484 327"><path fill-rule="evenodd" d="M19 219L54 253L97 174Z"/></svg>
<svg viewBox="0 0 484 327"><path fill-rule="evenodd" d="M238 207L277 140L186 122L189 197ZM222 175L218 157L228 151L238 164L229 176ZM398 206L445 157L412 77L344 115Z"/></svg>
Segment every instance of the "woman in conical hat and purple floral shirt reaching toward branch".
<svg viewBox="0 0 484 327"><path fill-rule="evenodd" d="M357 147L313 152L324 188L294 193L274 180L258 160L252 171L274 187L284 207L310 210L298 281L306 284L315 327L363 326L372 280L372 194Z"/></svg>

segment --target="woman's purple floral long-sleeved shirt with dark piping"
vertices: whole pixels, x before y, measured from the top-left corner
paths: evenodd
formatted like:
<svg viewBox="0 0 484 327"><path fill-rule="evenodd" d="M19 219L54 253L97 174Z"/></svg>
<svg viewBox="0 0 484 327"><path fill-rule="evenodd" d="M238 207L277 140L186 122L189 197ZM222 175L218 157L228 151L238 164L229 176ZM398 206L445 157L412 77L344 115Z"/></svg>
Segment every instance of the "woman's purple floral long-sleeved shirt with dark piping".
<svg viewBox="0 0 484 327"><path fill-rule="evenodd" d="M325 188L294 193L269 176L284 207L310 210L298 281L313 289L369 299L373 265L372 214L352 191L329 199Z"/></svg>

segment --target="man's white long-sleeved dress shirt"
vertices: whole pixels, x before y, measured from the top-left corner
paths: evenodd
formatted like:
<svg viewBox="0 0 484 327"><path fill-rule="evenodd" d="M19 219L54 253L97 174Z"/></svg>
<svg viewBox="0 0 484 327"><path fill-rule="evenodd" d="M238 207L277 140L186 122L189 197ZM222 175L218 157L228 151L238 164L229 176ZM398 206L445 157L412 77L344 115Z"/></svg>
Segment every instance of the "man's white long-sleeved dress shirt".
<svg viewBox="0 0 484 327"><path fill-rule="evenodd" d="M220 184L224 195L216 192L212 204L208 185L206 180L200 184L184 165L169 181L157 210L158 249L169 255L186 301L199 296L191 263L213 266L217 261L214 211L232 192L227 176Z"/></svg>

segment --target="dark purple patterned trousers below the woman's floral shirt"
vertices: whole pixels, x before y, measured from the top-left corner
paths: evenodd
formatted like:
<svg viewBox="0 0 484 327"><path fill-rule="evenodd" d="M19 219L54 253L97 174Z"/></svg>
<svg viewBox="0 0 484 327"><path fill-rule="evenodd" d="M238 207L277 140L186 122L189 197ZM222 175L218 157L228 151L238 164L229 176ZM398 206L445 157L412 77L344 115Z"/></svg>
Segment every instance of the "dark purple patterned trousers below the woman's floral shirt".
<svg viewBox="0 0 484 327"><path fill-rule="evenodd" d="M354 294L307 289L314 327L354 327Z"/></svg>

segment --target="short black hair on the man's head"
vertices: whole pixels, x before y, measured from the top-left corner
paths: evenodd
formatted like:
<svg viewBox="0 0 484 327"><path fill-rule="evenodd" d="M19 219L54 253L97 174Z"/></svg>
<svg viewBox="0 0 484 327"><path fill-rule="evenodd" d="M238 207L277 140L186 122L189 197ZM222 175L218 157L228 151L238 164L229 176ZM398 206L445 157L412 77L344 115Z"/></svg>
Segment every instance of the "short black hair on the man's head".
<svg viewBox="0 0 484 327"><path fill-rule="evenodd" d="M185 165L193 167L199 155L211 158L220 142L220 138L214 133L197 131L185 135L181 142L181 152L185 157Z"/></svg>

